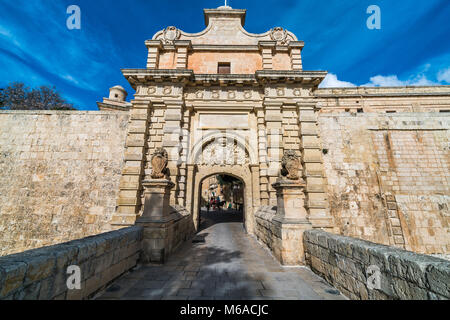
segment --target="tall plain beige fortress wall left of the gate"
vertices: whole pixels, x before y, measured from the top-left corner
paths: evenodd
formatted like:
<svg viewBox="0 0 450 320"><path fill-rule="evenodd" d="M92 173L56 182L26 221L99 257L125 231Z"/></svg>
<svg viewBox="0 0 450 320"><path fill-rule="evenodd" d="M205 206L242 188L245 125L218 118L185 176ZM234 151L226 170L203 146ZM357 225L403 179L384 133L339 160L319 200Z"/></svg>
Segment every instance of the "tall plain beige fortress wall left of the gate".
<svg viewBox="0 0 450 320"><path fill-rule="evenodd" d="M0 112L0 256L109 231L124 112Z"/></svg>

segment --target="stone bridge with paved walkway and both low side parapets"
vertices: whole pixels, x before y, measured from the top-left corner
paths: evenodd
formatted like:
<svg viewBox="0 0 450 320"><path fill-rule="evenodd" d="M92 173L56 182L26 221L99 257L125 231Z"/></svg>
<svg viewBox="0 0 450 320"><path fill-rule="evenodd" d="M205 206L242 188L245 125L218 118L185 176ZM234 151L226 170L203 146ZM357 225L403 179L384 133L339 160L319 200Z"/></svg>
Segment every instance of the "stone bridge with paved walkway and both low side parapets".
<svg viewBox="0 0 450 320"><path fill-rule="evenodd" d="M245 233L241 218L204 213L199 234L165 264L141 263L141 226L1 257L0 299L450 298L448 261L310 230L303 239L306 266L285 267ZM80 268L79 289L69 289L70 266Z"/></svg>

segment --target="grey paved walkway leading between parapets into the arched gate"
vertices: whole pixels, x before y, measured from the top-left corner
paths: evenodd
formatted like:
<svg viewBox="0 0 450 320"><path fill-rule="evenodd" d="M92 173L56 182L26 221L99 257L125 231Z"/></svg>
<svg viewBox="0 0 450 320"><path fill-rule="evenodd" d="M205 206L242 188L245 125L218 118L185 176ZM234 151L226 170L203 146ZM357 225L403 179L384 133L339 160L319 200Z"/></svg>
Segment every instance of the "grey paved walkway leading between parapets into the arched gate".
<svg viewBox="0 0 450 320"><path fill-rule="evenodd" d="M100 300L325 300L345 299L307 268L282 267L245 233L240 213L202 214L202 231L163 266L135 268Z"/></svg>

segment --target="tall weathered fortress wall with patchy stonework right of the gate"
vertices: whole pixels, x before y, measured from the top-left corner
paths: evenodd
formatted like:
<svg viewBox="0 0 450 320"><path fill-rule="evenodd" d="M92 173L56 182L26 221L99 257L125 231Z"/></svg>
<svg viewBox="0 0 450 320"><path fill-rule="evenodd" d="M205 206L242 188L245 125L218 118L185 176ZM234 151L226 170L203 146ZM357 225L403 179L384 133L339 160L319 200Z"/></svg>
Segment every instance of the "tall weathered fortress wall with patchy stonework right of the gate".
<svg viewBox="0 0 450 320"><path fill-rule="evenodd" d="M340 234L450 252L450 116L321 114L330 210Z"/></svg>

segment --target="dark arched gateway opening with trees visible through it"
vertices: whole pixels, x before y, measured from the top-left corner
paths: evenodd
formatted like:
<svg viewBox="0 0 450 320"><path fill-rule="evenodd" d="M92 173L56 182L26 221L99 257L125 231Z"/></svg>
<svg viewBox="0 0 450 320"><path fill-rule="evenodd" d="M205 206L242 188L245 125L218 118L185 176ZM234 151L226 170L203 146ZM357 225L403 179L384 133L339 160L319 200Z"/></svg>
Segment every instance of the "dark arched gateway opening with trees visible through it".
<svg viewBox="0 0 450 320"><path fill-rule="evenodd" d="M245 224L245 185L229 174L214 174L200 183L198 231L218 223Z"/></svg>

